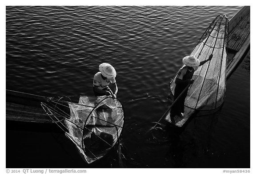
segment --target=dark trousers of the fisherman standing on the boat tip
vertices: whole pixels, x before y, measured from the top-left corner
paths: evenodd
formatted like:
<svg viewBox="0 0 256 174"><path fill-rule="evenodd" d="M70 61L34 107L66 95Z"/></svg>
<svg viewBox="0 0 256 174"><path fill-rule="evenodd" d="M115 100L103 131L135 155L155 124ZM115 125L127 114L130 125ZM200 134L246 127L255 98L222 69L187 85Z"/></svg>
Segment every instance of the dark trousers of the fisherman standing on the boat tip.
<svg viewBox="0 0 256 174"><path fill-rule="evenodd" d="M180 96L180 93L187 87L187 85L184 84L176 84L175 89L174 89L174 101L176 100L177 97ZM171 116L174 117L175 115L180 115L180 113L184 113L184 103L185 99L188 95L188 89L180 96L180 98L176 101L175 104L173 104L172 109L171 109Z"/></svg>

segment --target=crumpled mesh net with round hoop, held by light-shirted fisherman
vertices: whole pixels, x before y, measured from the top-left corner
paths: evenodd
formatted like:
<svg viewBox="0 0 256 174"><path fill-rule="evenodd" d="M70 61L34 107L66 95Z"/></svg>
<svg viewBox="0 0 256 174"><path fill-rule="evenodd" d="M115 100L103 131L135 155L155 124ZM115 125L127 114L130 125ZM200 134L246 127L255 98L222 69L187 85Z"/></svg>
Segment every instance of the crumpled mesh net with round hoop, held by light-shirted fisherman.
<svg viewBox="0 0 256 174"><path fill-rule="evenodd" d="M108 97L67 97L41 103L44 110L76 144L86 162L102 158L116 144L124 124L123 106Z"/></svg>

